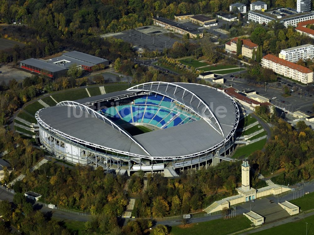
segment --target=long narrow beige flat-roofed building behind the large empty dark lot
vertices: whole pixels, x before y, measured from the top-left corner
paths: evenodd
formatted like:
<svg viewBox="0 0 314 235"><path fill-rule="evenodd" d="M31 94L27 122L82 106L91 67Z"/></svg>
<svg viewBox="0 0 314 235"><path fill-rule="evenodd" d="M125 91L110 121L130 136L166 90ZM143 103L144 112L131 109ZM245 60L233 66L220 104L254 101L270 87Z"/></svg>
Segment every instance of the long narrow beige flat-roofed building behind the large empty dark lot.
<svg viewBox="0 0 314 235"><path fill-rule="evenodd" d="M189 27L184 26L182 24L178 24L173 20L166 19L163 17L156 17L153 18L153 20L154 25L161 26L165 29L173 30L174 32L179 34L189 34L190 38L196 38L197 36L199 36L200 38L203 37L203 32L200 32L197 29L190 29Z"/></svg>

